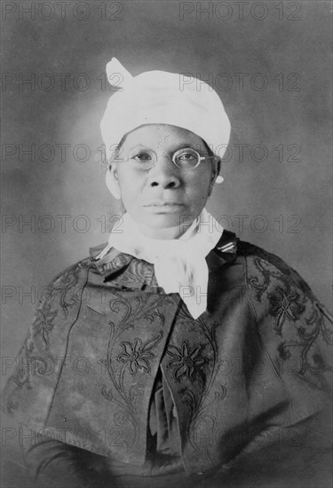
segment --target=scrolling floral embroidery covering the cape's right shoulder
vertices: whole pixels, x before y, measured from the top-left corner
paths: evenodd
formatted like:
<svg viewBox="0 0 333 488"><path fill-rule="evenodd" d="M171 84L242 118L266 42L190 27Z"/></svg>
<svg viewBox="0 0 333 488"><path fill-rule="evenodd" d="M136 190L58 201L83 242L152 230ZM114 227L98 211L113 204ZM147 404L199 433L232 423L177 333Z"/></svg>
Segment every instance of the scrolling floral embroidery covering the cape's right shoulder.
<svg viewBox="0 0 333 488"><path fill-rule="evenodd" d="M332 368L321 354L322 344L318 341L327 345L333 343L332 319L328 312L297 272L262 249L251 246L247 252L248 245L244 246L244 256L257 255L252 261L255 272L249 278L253 301L265 303L263 295L266 293L268 313L275 321L274 330L282 337L277 344L280 358L295 365L293 374L303 376L305 381L314 382L319 388L326 388L322 372ZM284 327L285 322L289 322L289 327Z"/></svg>

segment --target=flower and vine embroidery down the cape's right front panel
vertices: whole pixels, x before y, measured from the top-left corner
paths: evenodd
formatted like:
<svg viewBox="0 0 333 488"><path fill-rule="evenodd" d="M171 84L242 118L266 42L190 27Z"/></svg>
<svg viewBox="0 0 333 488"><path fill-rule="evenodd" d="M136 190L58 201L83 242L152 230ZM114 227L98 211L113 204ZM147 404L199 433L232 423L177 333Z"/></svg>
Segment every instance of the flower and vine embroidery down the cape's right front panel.
<svg viewBox="0 0 333 488"><path fill-rule="evenodd" d="M217 405L226 397L226 385L216 381L221 364L216 336L220 324L218 321L207 324L202 318L194 323L192 317L187 316L185 307L178 312L178 320L184 330L188 327L187 330L195 334L195 342L199 344L191 344L187 340L180 346L169 345L163 366L173 381L178 382L178 396L182 407L186 409L183 435L195 453L203 459L209 459L209 448L215 439L209 436L207 440L201 429L218 429L218 418L212 405ZM180 382L181 378L191 383Z"/></svg>

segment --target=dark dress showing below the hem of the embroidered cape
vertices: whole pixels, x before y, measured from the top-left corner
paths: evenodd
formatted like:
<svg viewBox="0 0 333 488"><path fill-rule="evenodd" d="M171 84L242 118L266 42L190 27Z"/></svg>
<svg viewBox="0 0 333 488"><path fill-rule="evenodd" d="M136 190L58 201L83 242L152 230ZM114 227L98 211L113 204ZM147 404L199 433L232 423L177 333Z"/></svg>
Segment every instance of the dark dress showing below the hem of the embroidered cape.
<svg viewBox="0 0 333 488"><path fill-rule="evenodd" d="M330 415L316 414L275 442L259 438L257 451L240 453L211 476L186 476L180 467L170 475L136 475L131 467L109 466L107 458L46 438L27 448L26 462L32 477L39 470L38 488L326 488L332 479L331 422Z"/></svg>

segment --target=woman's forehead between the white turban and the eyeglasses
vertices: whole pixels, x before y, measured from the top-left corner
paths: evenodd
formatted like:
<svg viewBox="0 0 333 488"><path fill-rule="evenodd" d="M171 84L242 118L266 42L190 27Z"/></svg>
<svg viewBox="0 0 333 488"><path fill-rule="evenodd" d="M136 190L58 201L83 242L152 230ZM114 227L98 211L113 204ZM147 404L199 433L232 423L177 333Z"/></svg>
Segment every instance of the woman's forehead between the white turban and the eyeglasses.
<svg viewBox="0 0 333 488"><path fill-rule="evenodd" d="M204 147L202 138L190 130L167 124L147 124L131 130L123 141L130 146L198 146Z"/></svg>

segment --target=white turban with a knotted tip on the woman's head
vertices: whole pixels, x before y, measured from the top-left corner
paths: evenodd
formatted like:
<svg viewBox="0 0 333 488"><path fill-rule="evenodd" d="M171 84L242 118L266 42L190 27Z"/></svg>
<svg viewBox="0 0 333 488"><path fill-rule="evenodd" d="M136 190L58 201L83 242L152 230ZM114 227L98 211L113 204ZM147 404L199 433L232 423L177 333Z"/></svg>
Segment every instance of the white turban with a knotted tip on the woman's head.
<svg viewBox="0 0 333 488"><path fill-rule="evenodd" d="M189 75L147 71L132 76L115 58L107 63L107 79L116 79L116 91L100 122L107 160L125 134L148 123L191 130L213 153L222 157L230 137L230 122L218 94Z"/></svg>

